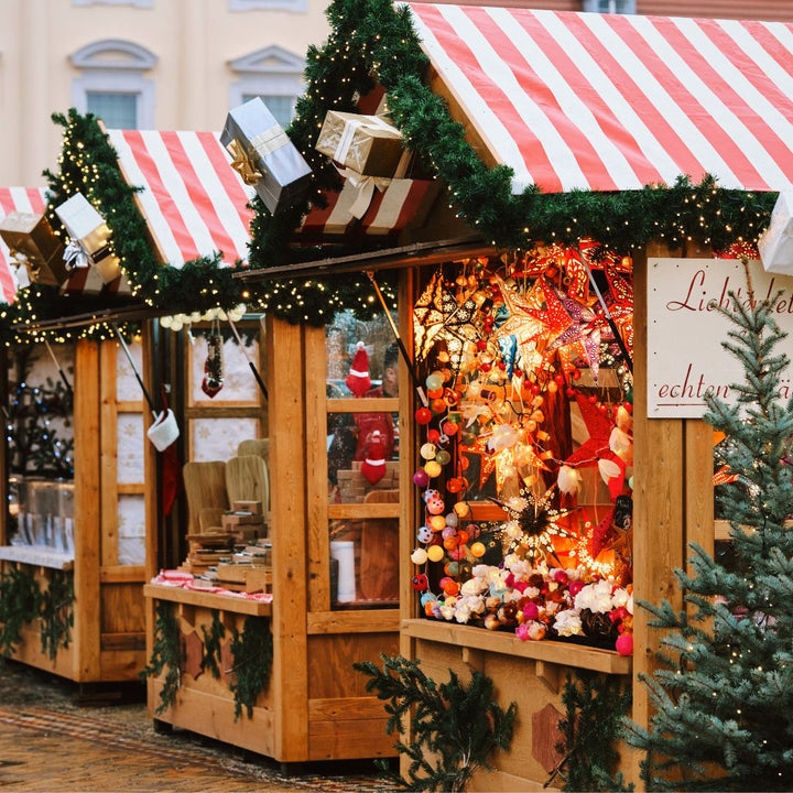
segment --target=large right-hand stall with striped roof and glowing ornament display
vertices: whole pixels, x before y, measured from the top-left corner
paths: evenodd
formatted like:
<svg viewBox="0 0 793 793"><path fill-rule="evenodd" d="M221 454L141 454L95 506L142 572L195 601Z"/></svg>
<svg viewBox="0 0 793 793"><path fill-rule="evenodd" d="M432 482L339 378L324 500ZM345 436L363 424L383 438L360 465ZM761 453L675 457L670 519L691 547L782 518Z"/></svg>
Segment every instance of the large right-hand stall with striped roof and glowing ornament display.
<svg viewBox="0 0 793 793"><path fill-rule="evenodd" d="M478 772L471 790L539 790L564 759L556 746L568 676L590 671L621 683L632 694L629 716L648 724L640 676L655 667L659 634L632 604L681 606L673 571L686 566L688 543L713 551L724 539L714 520L713 428L698 417L702 392L723 384L725 328L708 324L707 306L741 283L739 259L757 259L775 193L792 184L790 148L778 138L791 129L779 83L791 25L764 25L778 34L770 45L756 37L759 26L738 22L409 8L391 14L371 3L365 19L359 7L355 19L338 14L333 41L358 43L338 50L332 41L307 74L308 120L292 137L307 157L319 151L311 164L327 206L302 207L294 227L298 245L309 236L327 258L279 264L269 251L242 278L267 284L275 301L287 274L307 291L312 279L402 272L413 304L404 357L415 381L400 402L416 421L401 426L402 456L412 458L401 493L411 503L400 540L400 652L437 681L482 672L502 708L517 703L509 751L490 757L495 770ZM367 14L378 20L371 30L389 35L355 37L369 30ZM754 58L763 66L748 66ZM355 64L356 76L333 86L339 98L330 106L324 69L337 59ZM681 74L696 77L695 98ZM383 89L387 107L378 104ZM775 130L758 108L778 100ZM360 115L372 112L378 120ZM345 160L355 146L332 132L346 140L348 123L389 122L397 145L413 153L413 177L394 177L354 214L360 191L352 180L334 186L330 157L358 176L394 172L382 173L371 152ZM503 165L511 171L496 167ZM391 187L433 178L447 200L413 228L404 217L383 221ZM399 206L413 217L415 204ZM729 206L737 208L726 221ZM262 240L286 241L267 224L254 249ZM301 259L298 247L292 253ZM750 267L762 281L759 262ZM665 315L670 306L682 313ZM700 325L684 323L689 314ZM664 344L675 323L687 335ZM662 368L670 355L672 371ZM515 456L497 459L510 449ZM563 482L577 497L551 500ZM577 530L566 509L584 515ZM555 526L550 541L539 514ZM488 557L499 532L501 556ZM612 600L575 605L571 582L580 593L602 578ZM540 595L524 597L528 588ZM564 630L553 616L558 604ZM619 770L639 783L638 757L624 746Z"/></svg>

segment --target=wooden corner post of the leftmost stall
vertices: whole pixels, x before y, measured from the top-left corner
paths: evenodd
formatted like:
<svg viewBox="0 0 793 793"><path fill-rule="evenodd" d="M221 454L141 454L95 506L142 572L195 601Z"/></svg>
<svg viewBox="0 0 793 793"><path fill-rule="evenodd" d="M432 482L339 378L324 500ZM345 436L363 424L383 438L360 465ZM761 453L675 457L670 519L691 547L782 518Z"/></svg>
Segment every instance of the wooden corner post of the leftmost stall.
<svg viewBox="0 0 793 793"><path fill-rule="evenodd" d="M82 339L75 350L74 533L75 533L75 680L100 676L99 626L99 345Z"/></svg>

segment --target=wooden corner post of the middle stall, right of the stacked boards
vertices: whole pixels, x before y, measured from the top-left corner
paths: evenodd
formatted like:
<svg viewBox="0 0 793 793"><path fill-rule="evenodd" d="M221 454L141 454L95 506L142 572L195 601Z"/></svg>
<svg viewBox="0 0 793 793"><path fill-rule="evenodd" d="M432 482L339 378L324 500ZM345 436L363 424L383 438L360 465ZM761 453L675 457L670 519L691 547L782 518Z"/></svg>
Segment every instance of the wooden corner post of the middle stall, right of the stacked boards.
<svg viewBox="0 0 793 793"><path fill-rule="evenodd" d="M303 328L268 316L275 756L308 757L306 468Z"/></svg>

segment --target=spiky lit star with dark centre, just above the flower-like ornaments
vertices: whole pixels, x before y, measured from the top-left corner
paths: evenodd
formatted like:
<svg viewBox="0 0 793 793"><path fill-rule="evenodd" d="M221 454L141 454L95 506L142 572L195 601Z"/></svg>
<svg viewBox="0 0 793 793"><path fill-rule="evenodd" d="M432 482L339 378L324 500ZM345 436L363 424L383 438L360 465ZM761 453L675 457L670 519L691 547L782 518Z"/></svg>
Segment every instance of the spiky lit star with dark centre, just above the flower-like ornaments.
<svg viewBox="0 0 793 793"><path fill-rule="evenodd" d="M500 501L490 500L507 511L509 515L499 531L509 540L507 553L517 554L531 564L543 561L551 555L556 558L554 537L577 539L577 534L560 525L573 510L551 509L551 498L555 486L550 487L541 498L521 488L520 496ZM558 558L556 558L558 562Z"/></svg>

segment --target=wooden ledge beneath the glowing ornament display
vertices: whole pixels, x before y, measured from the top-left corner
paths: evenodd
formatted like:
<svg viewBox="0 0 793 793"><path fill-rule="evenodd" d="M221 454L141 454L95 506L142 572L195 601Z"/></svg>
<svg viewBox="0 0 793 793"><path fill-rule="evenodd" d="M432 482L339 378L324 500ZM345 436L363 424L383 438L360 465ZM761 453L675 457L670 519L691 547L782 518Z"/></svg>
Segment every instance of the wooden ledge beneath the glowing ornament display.
<svg viewBox="0 0 793 793"><path fill-rule="evenodd" d="M512 633L488 631L471 626L450 624L426 619L405 619L402 620L402 634L442 644L453 644L459 648L532 659L607 674L628 675L632 669L630 658L619 655L612 650L565 644L550 640L521 641Z"/></svg>

